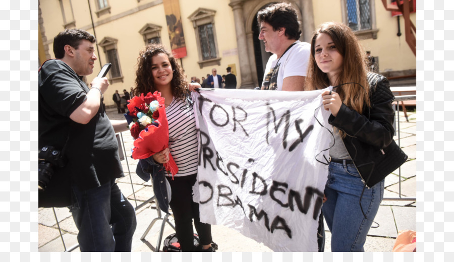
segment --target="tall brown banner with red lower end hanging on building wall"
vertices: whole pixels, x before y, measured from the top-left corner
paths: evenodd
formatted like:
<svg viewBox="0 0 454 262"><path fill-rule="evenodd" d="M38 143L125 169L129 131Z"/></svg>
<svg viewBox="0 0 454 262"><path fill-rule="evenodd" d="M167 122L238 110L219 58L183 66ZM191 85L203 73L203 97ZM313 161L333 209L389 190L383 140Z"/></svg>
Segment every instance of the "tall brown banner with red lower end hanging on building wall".
<svg viewBox="0 0 454 262"><path fill-rule="evenodd" d="M164 5L165 20L167 21L168 38L171 49L176 58L186 56L186 43L181 23L179 0L162 0Z"/></svg>

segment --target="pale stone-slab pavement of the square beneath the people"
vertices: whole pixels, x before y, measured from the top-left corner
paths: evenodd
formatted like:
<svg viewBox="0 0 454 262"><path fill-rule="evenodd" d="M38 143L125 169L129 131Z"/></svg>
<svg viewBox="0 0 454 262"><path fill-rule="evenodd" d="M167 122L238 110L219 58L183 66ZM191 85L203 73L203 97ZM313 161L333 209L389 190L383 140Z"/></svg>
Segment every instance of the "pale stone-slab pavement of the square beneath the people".
<svg viewBox="0 0 454 262"><path fill-rule="evenodd" d="M401 188L402 197L416 198L416 112L408 112L409 121L407 122L404 113L400 112L400 145L409 160L401 167L401 177L399 178L399 169L388 175L385 179L384 198L399 198L399 188ZM110 119L123 119L122 114L117 114L116 109L108 109ZM397 116L397 113L396 113ZM397 117L396 117L397 119ZM397 128L396 128L397 129ZM129 132L122 133L126 151L132 147L132 138ZM395 140L398 137L395 136ZM130 155L131 153L128 153ZM129 171L128 172L128 161ZM122 192L128 196L129 201L134 207L148 200L153 191L149 182L144 182L135 173L137 160L123 160L123 168L126 177L118 180L118 184ZM131 187L131 180L134 189ZM134 200L134 195L137 202ZM151 220L157 217L156 209L153 209L154 203L147 204L143 208L137 210L137 229L133 238L133 251L154 251L158 239L158 233L161 225L161 220L158 221L150 230L145 240L140 240L145 229L148 227ZM56 216L60 223L63 238L67 249L77 244L77 228L67 208L55 209ZM371 228L369 231L365 251L374 252L390 252L394 245L396 236L399 230L411 229L416 231L416 202L415 201L387 201L384 200L375 217L380 226ZM172 219L171 219L172 222ZM325 224L326 241L325 252L330 252L331 234ZM163 236L173 233L174 230L166 225ZM272 251L262 243L258 243L250 238L243 236L237 231L224 227L212 226L213 240L219 245L217 251L224 252L241 252L241 251L257 251L266 252ZM39 251L64 251L62 239L60 237L58 226L52 209L39 209L38 211L38 250ZM163 237L163 238L164 238ZM161 241L162 249L162 241ZM76 248L74 251L80 251Z"/></svg>

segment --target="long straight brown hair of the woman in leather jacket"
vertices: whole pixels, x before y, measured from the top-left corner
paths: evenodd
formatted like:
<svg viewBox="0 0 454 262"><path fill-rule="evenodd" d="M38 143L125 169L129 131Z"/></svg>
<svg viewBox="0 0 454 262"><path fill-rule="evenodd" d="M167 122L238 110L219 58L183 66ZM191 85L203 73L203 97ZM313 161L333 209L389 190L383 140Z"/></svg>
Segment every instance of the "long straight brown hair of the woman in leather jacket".
<svg viewBox="0 0 454 262"><path fill-rule="evenodd" d="M365 105L370 107L369 83L367 82L369 70L363 48L350 27L342 23L327 22L321 24L314 32L311 39L311 56L306 85L315 90L335 84L329 82L327 74L318 68L315 61L315 39L321 33L331 37L336 50L344 58L341 72L337 76L337 85L341 86L336 89L336 93L339 94L345 105L362 114Z"/></svg>

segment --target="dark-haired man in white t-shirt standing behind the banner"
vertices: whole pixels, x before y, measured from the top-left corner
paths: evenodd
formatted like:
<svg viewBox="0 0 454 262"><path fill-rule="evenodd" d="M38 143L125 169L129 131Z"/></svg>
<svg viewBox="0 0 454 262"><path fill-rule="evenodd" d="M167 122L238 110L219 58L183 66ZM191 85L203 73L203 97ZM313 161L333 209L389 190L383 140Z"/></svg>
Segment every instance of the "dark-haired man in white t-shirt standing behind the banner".
<svg viewBox="0 0 454 262"><path fill-rule="evenodd" d="M311 45L300 42L300 24L296 10L287 3L277 3L260 10L259 39L268 59L262 90L304 91Z"/></svg>

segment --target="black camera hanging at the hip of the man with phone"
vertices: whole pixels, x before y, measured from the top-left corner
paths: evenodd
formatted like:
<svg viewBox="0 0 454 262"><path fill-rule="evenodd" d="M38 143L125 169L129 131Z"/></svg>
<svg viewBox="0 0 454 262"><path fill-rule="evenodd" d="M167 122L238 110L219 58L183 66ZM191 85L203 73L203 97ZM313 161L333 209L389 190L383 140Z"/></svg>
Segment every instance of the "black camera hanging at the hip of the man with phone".
<svg viewBox="0 0 454 262"><path fill-rule="evenodd" d="M38 190L44 191L52 178L55 167L64 167L65 158L60 150L42 147L38 152Z"/></svg>

